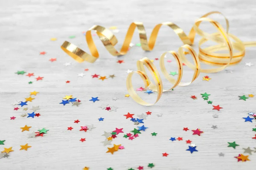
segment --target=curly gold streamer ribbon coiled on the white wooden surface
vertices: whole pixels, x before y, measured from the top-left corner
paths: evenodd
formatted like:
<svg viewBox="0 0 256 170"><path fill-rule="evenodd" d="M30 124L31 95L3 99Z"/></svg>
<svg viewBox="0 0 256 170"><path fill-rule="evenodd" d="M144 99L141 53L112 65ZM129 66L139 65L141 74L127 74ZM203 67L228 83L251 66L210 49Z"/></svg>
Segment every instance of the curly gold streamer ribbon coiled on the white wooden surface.
<svg viewBox="0 0 256 170"><path fill-rule="evenodd" d="M83 62L84 60L87 62L95 62L96 59L99 57L99 53L97 51L96 45L93 42L93 38L91 35L91 31L96 31L96 34L99 36L100 40L102 41L105 48L108 50L110 54L113 56L119 56L124 55L127 53L129 49L129 44L131 42L131 39L133 37L135 28L138 29L139 35L140 35L140 43L141 47L145 51L151 51L154 48L158 31L160 30L161 26L169 26L172 28L172 30L180 37L180 40L183 42L183 46L181 46L178 49L178 53L175 51L168 51L161 55L160 57L160 68L161 71L166 79L169 80L173 84L172 88L164 90L162 80L160 78L160 75L155 68L154 64L151 62L150 59L144 57L143 59L140 59L137 61L137 69L138 71L134 71L130 74L128 74L127 80L126 80L126 86L127 90L130 94L130 96L139 104L150 106L154 105L161 97L162 93L165 91L169 91L173 88L175 88L177 85L180 86L186 86L190 85L200 74L200 72L203 73L215 73L218 71L223 70L228 65L235 65L241 61L241 59L244 57L245 54L245 46L256 46L256 42L242 42L237 38L236 36L229 34L229 22L226 17L226 31L224 28L215 20L212 20L208 18L210 14L221 14L218 11L212 11L205 15L203 15L201 18L195 21L194 26L189 32L189 35L187 36L184 31L171 22L165 22L157 24L153 31L151 32L151 36L149 40L147 40L147 36L145 33L145 28L143 26L143 23L140 22L134 22L131 23L130 27L128 28L125 40L123 42L122 48L120 52L116 51L114 48L114 45L117 43L116 37L109 31L108 29L102 27L102 26L93 26L90 28L86 34L86 41L88 44L88 47L90 49L91 55L87 54L85 51L78 48L76 45L73 45L70 42L65 41L61 48L73 59L75 59L77 62ZM221 14L223 15L223 14ZM223 15L224 16L224 15ZM209 22L216 28L218 31L214 34L208 34L204 31L202 31L199 26L201 22ZM199 41L199 54L196 54L195 50L190 46L193 45L195 35L199 34L202 39ZM232 39L233 41L231 41ZM207 41L213 41L218 43L217 45L209 46L207 48L201 48L201 45L204 44ZM183 51L183 50L186 51ZM238 52L234 52L234 49ZM221 51L221 50L227 50L228 53L222 54L222 53L215 53L215 51ZM164 65L164 56L170 53L175 58L178 66L178 78L173 79L166 71L165 65ZM189 62L185 55L190 54L192 56L192 59L194 61L194 64ZM200 67L200 62L203 62L208 65L215 65L219 66L218 68L211 68L211 69L202 69ZM191 82L181 82L182 75L183 75L183 65L182 63L185 63L189 68L194 70L194 75L192 77ZM151 76L154 79L154 82L151 82L148 78L148 76L145 74L145 67L149 70ZM148 103L145 102L143 99L140 98L140 96L137 95L137 93L134 91L134 88L131 83L131 78L134 73L137 73L140 75L140 77L143 79L143 82L145 84L145 88L150 88L153 91L157 92L157 99L154 103Z"/></svg>

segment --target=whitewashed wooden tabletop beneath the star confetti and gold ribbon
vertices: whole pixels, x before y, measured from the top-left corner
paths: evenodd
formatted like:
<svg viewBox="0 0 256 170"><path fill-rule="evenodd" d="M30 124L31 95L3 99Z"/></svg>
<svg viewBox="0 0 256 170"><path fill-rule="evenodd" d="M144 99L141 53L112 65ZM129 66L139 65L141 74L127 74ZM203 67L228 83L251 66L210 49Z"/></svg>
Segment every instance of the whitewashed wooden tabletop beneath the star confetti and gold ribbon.
<svg viewBox="0 0 256 170"><path fill-rule="evenodd" d="M90 170L127 170L136 169L139 165L147 167L154 163L156 170L252 170L256 166L256 153L249 156L251 161L237 162L234 156L243 153L243 147L256 147L256 140L251 139L255 133L252 128L256 122L244 122L248 112L255 112L256 98L239 100L238 96L256 94L256 66L245 67L245 62L256 64L256 48L247 48L246 56L236 66L227 68L233 73L221 71L209 74L209 82L200 77L187 87L177 87L172 92L163 94L160 101L152 107L144 107L131 98L124 97L127 93L125 80L128 69L136 70L136 61L142 57L154 59L164 51L174 50L182 45L178 37L168 28L160 30L153 51L145 52L133 47L122 57L113 57L105 50L95 37L99 47L100 59L95 63L76 63L61 51L60 45L68 37L75 35L70 42L79 45L85 51L87 45L82 31L98 24L109 28L117 26L115 33L119 40L119 49L129 24L133 21L144 22L148 36L157 23L171 21L189 32L193 22L209 11L221 11L230 21L230 32L243 41L256 40L256 3L254 0L8 0L0 2L0 140L6 140L3 147L13 147L8 159L0 159L1 170L81 170L84 166ZM223 18L220 22L224 24ZM211 27L205 25L206 29ZM56 37L57 41L50 41ZM199 37L197 37L198 40ZM135 33L133 42L139 42ZM198 42L198 41L196 41ZM195 45L195 49L197 46ZM46 51L46 55L39 55ZM50 62L50 58L57 58ZM123 59L125 63L116 63ZM64 66L71 62L70 66ZM158 61L154 61L158 65ZM169 63L168 71L175 71L175 63ZM209 67L205 66L204 67ZM89 68L89 71L84 71ZM35 81L35 77L17 75L17 70L35 73L44 77L43 81ZM78 73L86 74L83 78ZM105 81L92 79L91 75L108 76L115 74L114 79ZM186 69L185 80L191 79L192 70ZM70 80L70 84L65 81ZM137 81L138 80L138 81ZM33 81L33 84L28 84ZM135 87L142 82L136 79ZM164 80L164 85L169 84ZM169 85L170 86L170 85ZM19 109L13 111L11 103L14 99L23 100L30 91L39 91L35 100L28 108L40 105L41 116L35 119L20 117L22 113L30 113ZM224 109L212 111L212 105L201 99L202 93L211 94L209 99L213 105ZM156 94L142 94L145 99L153 100ZM79 107L59 105L65 95L73 95L82 101ZM146 96L147 95L147 96ZM191 95L198 96L192 100ZM100 101L89 101L98 96ZM116 101L112 100L117 97ZM117 112L108 112L98 108L102 103L118 107ZM152 116L145 120L149 127L140 137L133 141L119 134L112 144L122 144L125 149L113 155L105 153L107 146L102 145L104 131L123 128L125 133L136 128L123 114L134 114L151 111ZM163 113L162 117L157 117ZM218 113L219 118L212 115ZM14 121L10 117L17 117ZM98 118L105 118L99 122ZM79 119L79 124L73 121ZM80 125L94 124L92 131L79 131ZM22 132L20 127L32 126L30 131ZM212 125L218 129L213 130ZM74 127L72 131L67 127ZM27 138L27 134L41 128L49 129L44 137ZM191 131L200 128L201 136L192 135ZM156 132L157 136L150 133ZM170 137L183 137L183 141L171 142ZM80 142L86 138L86 142ZM192 140L198 152L190 154L186 149L185 140ZM236 141L236 149L227 147L227 142ZM19 150L20 145L28 143L28 151ZM163 157L162 153L169 153ZM224 153L219 157L218 153Z"/></svg>

